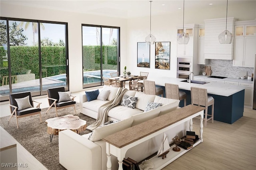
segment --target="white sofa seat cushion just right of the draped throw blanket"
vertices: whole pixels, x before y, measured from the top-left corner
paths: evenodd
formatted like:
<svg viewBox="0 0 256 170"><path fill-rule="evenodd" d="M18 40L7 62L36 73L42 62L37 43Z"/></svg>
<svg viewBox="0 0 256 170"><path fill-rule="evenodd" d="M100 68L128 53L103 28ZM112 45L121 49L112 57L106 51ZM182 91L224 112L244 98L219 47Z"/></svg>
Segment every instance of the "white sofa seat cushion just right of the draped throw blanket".
<svg viewBox="0 0 256 170"><path fill-rule="evenodd" d="M108 111L108 117L112 117L117 120L123 120L123 119L128 119L132 115L136 115L142 112L143 110L140 110L140 109L136 109L136 108L132 109L129 107L119 105L119 106L113 107Z"/></svg>

